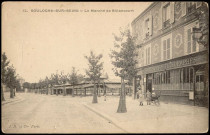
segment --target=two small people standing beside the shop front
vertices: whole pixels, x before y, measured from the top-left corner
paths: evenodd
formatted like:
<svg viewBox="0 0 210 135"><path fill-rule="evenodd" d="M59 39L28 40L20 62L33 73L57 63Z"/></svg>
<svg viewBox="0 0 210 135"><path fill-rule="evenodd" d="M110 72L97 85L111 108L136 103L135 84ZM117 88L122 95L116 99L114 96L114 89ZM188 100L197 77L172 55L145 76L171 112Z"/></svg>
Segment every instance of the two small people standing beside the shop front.
<svg viewBox="0 0 210 135"><path fill-rule="evenodd" d="M153 94L155 94L155 93L153 93ZM138 92L137 92L137 98L139 98L139 103L140 103L139 105L143 106L144 93L143 93L143 91L141 89L139 89ZM151 104L151 99L152 99L152 93L149 90L147 90L147 93L146 93L147 105Z"/></svg>

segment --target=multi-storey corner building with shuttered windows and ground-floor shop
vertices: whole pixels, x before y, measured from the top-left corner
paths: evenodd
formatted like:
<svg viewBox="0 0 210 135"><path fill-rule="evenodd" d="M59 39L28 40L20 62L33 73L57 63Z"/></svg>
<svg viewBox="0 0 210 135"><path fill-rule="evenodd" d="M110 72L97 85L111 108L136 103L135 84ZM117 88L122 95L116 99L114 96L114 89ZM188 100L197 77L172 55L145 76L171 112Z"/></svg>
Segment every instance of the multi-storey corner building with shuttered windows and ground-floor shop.
<svg viewBox="0 0 210 135"><path fill-rule="evenodd" d="M162 101L194 104L208 97L207 49L192 37L202 2L154 2L132 21L137 36L135 86ZM134 88L136 88L134 87Z"/></svg>

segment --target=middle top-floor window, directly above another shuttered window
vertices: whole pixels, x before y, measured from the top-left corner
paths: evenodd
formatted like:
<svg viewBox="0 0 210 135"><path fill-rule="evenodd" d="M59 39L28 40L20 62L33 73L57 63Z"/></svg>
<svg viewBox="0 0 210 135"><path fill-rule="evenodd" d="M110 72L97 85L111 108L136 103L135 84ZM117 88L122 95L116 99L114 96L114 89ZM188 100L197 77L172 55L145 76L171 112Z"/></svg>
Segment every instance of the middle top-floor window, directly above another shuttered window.
<svg viewBox="0 0 210 135"><path fill-rule="evenodd" d="M167 27L170 24L170 3L163 7L163 26Z"/></svg>

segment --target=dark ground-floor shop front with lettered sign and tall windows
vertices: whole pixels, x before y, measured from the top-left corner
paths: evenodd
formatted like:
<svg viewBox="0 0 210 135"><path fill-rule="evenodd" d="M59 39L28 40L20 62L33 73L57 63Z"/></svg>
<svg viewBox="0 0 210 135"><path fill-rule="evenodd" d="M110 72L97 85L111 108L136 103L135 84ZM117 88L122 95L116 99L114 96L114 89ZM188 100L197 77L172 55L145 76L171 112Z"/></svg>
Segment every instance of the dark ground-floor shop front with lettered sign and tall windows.
<svg viewBox="0 0 210 135"><path fill-rule="evenodd" d="M138 76L144 93L154 91L161 101L206 106L207 64L206 53L199 52L141 67Z"/></svg>

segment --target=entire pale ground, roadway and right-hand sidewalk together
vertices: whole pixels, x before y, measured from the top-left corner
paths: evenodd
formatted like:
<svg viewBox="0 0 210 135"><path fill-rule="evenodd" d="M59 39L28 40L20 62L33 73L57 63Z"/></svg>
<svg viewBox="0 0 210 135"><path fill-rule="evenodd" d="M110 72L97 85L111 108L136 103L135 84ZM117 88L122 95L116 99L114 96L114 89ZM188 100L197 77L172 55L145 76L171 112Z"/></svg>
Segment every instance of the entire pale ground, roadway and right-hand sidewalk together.
<svg viewBox="0 0 210 135"><path fill-rule="evenodd" d="M119 97L113 96L106 101L99 97L98 104L90 102L92 97L32 93L17 97L21 100L2 106L5 133L198 133L208 129L204 107L162 102L158 107L140 107L137 100L127 97L128 112L116 113Z"/></svg>

